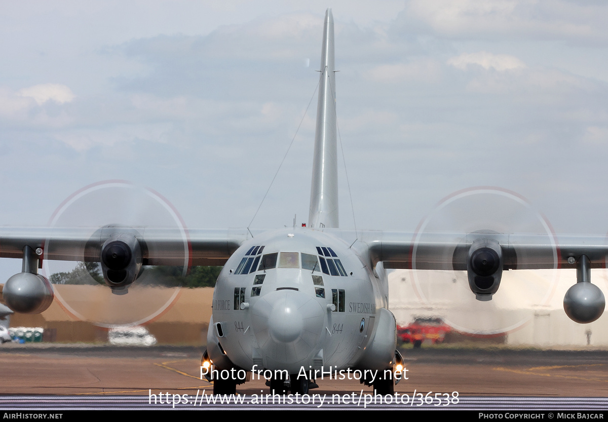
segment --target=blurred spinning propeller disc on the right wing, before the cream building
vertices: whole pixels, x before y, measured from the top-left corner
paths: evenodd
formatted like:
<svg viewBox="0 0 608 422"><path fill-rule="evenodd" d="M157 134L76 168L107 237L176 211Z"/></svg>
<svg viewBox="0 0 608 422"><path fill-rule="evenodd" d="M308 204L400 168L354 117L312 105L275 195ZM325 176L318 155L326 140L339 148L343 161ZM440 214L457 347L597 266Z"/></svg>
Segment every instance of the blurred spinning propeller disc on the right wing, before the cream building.
<svg viewBox="0 0 608 422"><path fill-rule="evenodd" d="M549 304L558 272L503 271L533 263L537 268L539 262L542 268L558 268L558 246L550 224L521 196L480 187L444 198L416 230L413 269L429 268L424 249L433 244L437 252L439 238L445 245L439 260L448 264L437 270L435 262L435 271L413 271L413 289L422 303L455 329L508 333L530 319L527 309L542 310ZM500 294L494 296L499 286Z"/></svg>

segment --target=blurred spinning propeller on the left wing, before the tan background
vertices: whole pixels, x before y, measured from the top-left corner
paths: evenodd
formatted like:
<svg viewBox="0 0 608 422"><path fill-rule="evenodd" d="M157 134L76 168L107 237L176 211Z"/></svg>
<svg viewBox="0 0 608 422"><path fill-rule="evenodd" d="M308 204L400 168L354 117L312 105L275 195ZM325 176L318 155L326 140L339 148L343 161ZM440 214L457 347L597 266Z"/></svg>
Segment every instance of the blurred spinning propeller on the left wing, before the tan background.
<svg viewBox="0 0 608 422"><path fill-rule="evenodd" d="M183 248L177 254L171 251L179 263L177 275L185 276L190 258L181 216L153 190L125 181L89 185L67 198L49 225L90 232L75 268L74 261L43 261L43 274L61 283L54 285L55 297L71 316L107 328L139 325L167 311L177 299L174 277L142 266L150 252L145 235L154 228L181 235ZM47 240L44 254L52 255L61 246Z"/></svg>

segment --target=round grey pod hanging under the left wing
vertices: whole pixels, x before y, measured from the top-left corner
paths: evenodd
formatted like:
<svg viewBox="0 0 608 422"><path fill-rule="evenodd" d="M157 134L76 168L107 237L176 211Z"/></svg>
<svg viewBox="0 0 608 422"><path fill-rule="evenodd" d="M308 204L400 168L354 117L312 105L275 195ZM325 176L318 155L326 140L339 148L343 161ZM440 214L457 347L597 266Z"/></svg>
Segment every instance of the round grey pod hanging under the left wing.
<svg viewBox="0 0 608 422"><path fill-rule="evenodd" d="M46 311L55 297L46 277L31 272L19 272L5 283L2 296L7 306L21 314Z"/></svg>

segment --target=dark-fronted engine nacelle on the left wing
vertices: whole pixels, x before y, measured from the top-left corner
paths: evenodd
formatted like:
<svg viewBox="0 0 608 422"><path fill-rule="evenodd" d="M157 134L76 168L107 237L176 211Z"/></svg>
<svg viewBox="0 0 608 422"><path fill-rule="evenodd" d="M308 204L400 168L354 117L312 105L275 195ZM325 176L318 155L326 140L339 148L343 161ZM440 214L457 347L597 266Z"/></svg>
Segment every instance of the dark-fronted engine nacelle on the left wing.
<svg viewBox="0 0 608 422"><path fill-rule="evenodd" d="M133 233L116 233L100 253L103 278L114 294L125 294L142 268L142 247Z"/></svg>

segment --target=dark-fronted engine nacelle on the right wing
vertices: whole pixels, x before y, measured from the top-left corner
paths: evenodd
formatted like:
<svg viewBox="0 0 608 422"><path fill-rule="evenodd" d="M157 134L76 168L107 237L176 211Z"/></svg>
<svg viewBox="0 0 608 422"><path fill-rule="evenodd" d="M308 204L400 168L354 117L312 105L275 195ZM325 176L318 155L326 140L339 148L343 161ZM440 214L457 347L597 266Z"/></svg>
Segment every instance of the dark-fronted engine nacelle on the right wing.
<svg viewBox="0 0 608 422"><path fill-rule="evenodd" d="M500 286L502 268L502 248L496 240L478 239L473 242L466 256L466 272L475 299L492 300Z"/></svg>

